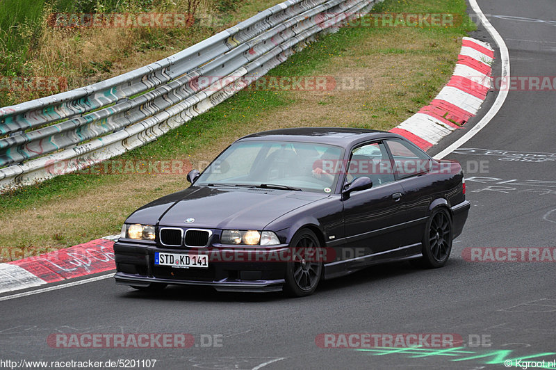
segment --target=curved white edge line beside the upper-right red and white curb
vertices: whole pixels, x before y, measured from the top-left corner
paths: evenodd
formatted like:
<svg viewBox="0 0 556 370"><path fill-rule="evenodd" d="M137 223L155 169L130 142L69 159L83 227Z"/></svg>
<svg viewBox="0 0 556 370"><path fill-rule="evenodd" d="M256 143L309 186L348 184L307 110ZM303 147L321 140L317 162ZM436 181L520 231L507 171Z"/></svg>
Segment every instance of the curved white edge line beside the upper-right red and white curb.
<svg viewBox="0 0 556 370"><path fill-rule="evenodd" d="M500 33L496 31L489 20L486 19L486 17L482 13L481 8L479 7L479 4L477 4L477 0L469 0L469 4L471 5L471 8L473 8L475 13L477 13L486 31L489 31L494 41L496 41L496 45L498 45L498 48L500 49L500 61L502 63L501 77L503 79L502 81L509 81L509 53L504 39L502 38L502 36L500 36ZM496 113L500 111L500 108L502 108L502 104L504 104L504 102L506 101L507 95L507 89L500 89L500 91L498 92L498 96L494 101L494 104L492 104L490 110L484 115L484 117L477 124L475 124L475 126L473 126L473 128L470 129L464 136L461 136L461 138L457 139L454 143L445 148L445 150L443 150L439 154L436 154L434 156L434 159L443 159L445 156L447 156L457 148L461 147L461 145L464 145L464 143L466 143L469 139L473 138L473 136L481 131L486 126L486 124L489 124Z"/></svg>

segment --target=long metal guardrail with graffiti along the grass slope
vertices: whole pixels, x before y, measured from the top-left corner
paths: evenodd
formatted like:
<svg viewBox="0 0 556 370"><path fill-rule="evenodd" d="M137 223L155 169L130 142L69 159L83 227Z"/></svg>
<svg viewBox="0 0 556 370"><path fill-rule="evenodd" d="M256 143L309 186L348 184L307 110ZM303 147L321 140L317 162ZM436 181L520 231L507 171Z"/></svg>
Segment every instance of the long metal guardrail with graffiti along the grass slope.
<svg viewBox="0 0 556 370"><path fill-rule="evenodd" d="M0 193L155 140L256 81L316 34L337 30L379 1L284 1L161 61L0 108ZM53 170L60 162L64 166Z"/></svg>

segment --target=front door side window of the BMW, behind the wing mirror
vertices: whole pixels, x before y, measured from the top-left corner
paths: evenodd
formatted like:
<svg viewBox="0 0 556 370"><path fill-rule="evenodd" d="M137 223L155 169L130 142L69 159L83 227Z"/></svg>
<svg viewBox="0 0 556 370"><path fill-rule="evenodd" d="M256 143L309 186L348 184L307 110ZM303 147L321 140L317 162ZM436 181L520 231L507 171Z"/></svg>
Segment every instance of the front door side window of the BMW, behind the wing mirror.
<svg viewBox="0 0 556 370"><path fill-rule="evenodd" d="M361 145L352 150L347 166L347 182L362 176L373 181L373 188L394 181L390 158L382 142Z"/></svg>

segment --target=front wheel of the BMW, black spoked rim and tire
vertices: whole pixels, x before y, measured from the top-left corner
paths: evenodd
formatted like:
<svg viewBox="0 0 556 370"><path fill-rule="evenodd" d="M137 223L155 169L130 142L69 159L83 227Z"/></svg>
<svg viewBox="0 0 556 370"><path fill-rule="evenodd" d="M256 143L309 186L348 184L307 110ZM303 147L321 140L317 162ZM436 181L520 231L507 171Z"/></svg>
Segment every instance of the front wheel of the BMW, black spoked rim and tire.
<svg viewBox="0 0 556 370"><path fill-rule="evenodd" d="M320 248L320 244L314 232L302 229L293 236L290 248L302 248L302 251L316 250ZM293 255L295 256L297 253L293 253ZM293 297L310 296L317 289L322 271L322 261L308 262L304 258L301 260L294 258L293 261L288 261L284 292Z"/></svg>

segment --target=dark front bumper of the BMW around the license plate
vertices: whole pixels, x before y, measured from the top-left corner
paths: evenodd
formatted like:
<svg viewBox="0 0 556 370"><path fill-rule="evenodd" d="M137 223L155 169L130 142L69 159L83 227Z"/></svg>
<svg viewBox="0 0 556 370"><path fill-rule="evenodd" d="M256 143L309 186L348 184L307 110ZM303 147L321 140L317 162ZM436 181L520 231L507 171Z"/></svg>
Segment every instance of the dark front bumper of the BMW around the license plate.
<svg viewBox="0 0 556 370"><path fill-rule="evenodd" d="M165 284L202 285L218 291L280 291L284 284L286 263L269 262L265 256L277 255L288 246L258 247L259 259L237 260L238 252L254 248L212 247L208 268L173 268L154 264L155 252L187 253L204 252L203 248L167 249L154 245L140 245L125 241L114 244L117 284L146 287L152 282Z"/></svg>

